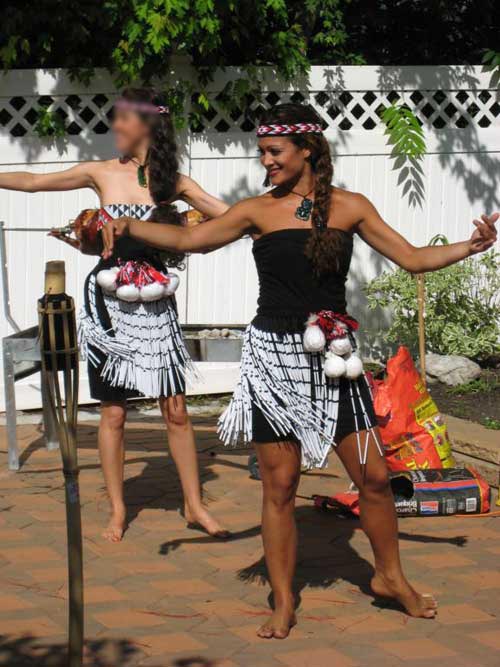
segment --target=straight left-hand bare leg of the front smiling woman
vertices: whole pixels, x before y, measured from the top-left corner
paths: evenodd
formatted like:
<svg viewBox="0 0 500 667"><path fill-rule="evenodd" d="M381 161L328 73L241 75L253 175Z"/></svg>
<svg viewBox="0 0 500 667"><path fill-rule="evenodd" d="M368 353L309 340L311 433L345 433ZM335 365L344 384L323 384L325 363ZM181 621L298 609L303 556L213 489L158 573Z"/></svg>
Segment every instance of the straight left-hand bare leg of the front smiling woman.
<svg viewBox="0 0 500 667"><path fill-rule="evenodd" d="M285 639L296 624L292 582L297 561L295 494L300 479L300 446L294 442L256 446L262 478L262 541L274 612L257 634Z"/></svg>

